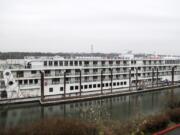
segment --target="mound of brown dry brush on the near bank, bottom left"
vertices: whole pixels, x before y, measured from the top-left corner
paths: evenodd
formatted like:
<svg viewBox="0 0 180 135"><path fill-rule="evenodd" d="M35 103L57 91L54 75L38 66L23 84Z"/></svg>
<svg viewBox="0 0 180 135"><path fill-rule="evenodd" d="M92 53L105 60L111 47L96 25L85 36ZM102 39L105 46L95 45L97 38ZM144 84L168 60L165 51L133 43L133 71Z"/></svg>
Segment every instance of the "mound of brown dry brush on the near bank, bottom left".
<svg viewBox="0 0 180 135"><path fill-rule="evenodd" d="M1 135L97 135L94 124L79 120L51 118L37 123L0 131Z"/></svg>

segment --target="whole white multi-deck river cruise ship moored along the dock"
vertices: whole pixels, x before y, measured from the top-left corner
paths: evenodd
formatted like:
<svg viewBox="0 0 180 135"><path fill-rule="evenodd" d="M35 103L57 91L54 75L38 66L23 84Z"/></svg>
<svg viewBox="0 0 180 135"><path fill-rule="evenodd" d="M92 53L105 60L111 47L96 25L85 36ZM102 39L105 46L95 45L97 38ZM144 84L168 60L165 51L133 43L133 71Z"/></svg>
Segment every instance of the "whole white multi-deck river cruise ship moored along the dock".
<svg viewBox="0 0 180 135"><path fill-rule="evenodd" d="M26 57L0 61L0 100L79 97L180 81L180 57ZM43 89L43 91L42 91Z"/></svg>

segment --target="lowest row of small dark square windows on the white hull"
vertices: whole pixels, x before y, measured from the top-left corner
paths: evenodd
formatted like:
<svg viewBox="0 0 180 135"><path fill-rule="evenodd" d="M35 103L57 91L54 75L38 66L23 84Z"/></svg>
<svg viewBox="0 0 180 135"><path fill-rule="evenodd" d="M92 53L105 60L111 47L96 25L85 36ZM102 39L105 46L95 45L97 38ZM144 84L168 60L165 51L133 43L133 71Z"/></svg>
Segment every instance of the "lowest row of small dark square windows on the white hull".
<svg viewBox="0 0 180 135"><path fill-rule="evenodd" d="M112 86L123 86L126 85L127 82L113 82ZM111 83L103 83L102 87L109 87L111 86ZM92 88L100 88L101 84L89 84L89 85L81 85L81 89L92 89ZM70 90L78 90L79 86L70 86ZM60 87L60 91L64 91L64 87ZM49 88L49 92L53 92L53 88Z"/></svg>

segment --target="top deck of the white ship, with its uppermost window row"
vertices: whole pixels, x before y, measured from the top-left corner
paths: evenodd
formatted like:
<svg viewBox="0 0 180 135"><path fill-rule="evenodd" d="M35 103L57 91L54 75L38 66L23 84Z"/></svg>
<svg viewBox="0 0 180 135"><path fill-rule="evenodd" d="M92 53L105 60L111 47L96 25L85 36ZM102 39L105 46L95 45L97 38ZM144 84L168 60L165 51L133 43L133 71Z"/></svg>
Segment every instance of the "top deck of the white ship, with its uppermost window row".
<svg viewBox="0 0 180 135"><path fill-rule="evenodd" d="M177 56L134 57L134 55L121 55L119 57L25 57L24 59L0 60L0 71L4 69L16 71L59 68L142 67L177 64L180 64L180 57Z"/></svg>

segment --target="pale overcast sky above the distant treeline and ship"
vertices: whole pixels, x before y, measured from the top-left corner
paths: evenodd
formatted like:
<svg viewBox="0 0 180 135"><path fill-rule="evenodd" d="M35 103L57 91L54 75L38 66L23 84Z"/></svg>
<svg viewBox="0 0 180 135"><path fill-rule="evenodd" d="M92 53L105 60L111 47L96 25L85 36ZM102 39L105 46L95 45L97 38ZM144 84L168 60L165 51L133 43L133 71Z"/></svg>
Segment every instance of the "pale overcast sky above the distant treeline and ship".
<svg viewBox="0 0 180 135"><path fill-rule="evenodd" d="M180 54L180 0L0 0L0 51Z"/></svg>

